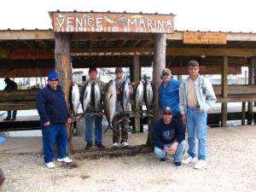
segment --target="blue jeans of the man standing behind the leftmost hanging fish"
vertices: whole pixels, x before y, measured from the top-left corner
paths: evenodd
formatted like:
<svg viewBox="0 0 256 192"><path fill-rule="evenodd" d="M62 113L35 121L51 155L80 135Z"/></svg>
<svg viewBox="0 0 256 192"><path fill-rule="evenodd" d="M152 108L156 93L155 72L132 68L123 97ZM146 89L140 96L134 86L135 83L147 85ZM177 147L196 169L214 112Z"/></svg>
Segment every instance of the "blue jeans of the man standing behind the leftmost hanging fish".
<svg viewBox="0 0 256 192"><path fill-rule="evenodd" d="M102 144L102 116L85 119L85 142L92 144L92 124L95 121L95 143Z"/></svg>

